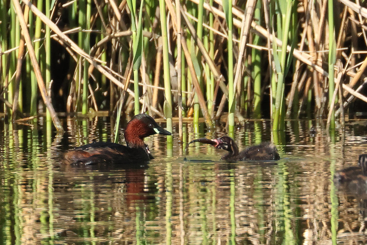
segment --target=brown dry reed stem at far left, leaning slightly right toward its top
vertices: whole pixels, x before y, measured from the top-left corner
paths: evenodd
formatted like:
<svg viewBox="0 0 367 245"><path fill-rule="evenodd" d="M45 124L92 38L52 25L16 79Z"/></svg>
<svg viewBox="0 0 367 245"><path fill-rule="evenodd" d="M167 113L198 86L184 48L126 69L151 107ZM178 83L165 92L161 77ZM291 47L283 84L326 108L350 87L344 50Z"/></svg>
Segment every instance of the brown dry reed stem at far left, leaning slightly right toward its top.
<svg viewBox="0 0 367 245"><path fill-rule="evenodd" d="M24 9L24 21L25 24L28 24L28 15L29 15L29 7L25 6ZM16 75L15 75L15 91L14 91L14 98L13 98L13 108L12 111L17 111L18 110L18 100L19 100L19 84L20 84L20 80L21 80L21 72L22 72L22 63L23 63L23 58L24 58L24 35L23 35L23 31L21 33L21 40L19 41L19 52L18 52L18 59L17 59L17 71L16 71ZM12 114L12 119L15 119L15 116L17 114L13 113Z"/></svg>

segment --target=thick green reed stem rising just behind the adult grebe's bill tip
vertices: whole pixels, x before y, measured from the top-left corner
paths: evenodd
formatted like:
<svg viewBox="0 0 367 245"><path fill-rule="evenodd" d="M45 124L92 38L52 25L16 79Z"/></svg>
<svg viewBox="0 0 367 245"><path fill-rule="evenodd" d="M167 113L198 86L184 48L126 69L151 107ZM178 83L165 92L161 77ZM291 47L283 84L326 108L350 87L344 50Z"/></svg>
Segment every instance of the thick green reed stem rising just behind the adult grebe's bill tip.
<svg viewBox="0 0 367 245"><path fill-rule="evenodd" d="M172 96L171 96L171 79L170 79L170 61L168 53L168 36L167 36L167 18L166 4L164 0L159 0L161 29L162 29L162 45L163 45L163 76L164 76L164 115L167 118L167 130L172 132ZM172 136L167 136L167 143L172 143Z"/></svg>

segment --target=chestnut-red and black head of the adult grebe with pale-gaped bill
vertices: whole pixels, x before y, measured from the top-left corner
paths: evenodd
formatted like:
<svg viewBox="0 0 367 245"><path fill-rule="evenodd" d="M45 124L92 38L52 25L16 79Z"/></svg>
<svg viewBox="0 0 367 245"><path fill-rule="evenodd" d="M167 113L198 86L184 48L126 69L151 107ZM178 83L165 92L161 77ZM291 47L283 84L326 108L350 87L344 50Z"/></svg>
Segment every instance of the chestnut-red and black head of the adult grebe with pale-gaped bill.
<svg viewBox="0 0 367 245"><path fill-rule="evenodd" d="M128 147L145 147L143 139L152 134L171 135L147 114L137 114L127 123L124 136Z"/></svg>

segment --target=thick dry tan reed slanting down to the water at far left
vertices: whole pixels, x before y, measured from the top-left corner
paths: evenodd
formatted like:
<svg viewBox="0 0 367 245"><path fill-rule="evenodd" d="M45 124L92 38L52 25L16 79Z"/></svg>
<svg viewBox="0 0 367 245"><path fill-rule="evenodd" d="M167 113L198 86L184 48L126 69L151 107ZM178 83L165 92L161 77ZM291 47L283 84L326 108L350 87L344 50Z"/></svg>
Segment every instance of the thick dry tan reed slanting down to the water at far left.
<svg viewBox="0 0 367 245"><path fill-rule="evenodd" d="M32 41L30 40L29 32L28 32L28 29L27 29L27 24L24 21L24 15L22 13L22 8L19 4L19 1L13 0L13 3L14 3L14 6L15 6L15 11L17 12L17 15L19 17L19 23L21 25L23 36L24 36L25 42L27 44L29 57L30 57L30 60L32 62L33 70L34 70L34 73L36 75L36 79L37 79L38 87L39 87L40 92L41 92L41 96L43 98L44 103L46 104L46 107L47 107L48 111L50 112L51 119L52 119L52 122L55 125L56 130L58 132L62 132L63 131L62 125L60 123L59 118L56 115L54 107L52 107L51 99L48 96L45 85L44 85L44 81L43 81L43 78L42 78L42 75L41 75L41 71L40 71L40 68L38 66L36 54L34 53L34 49L33 49L33 46L32 46ZM47 17L46 17L46 19L47 19Z"/></svg>

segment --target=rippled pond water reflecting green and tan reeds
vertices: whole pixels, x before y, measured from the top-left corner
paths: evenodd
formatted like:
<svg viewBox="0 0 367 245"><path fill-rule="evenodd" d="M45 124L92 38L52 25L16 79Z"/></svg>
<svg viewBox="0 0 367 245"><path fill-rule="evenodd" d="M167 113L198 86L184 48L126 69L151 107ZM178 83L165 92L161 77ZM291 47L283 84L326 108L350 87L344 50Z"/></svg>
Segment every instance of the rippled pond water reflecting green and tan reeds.
<svg viewBox="0 0 367 245"><path fill-rule="evenodd" d="M363 244L367 201L333 183L335 170L367 152L365 125L336 131L290 121L271 164L220 161L221 150L174 132L145 142L148 166L81 169L60 165L66 149L110 140L108 118L65 120L63 136L0 122L0 242L3 244ZM162 123L161 123L162 124ZM310 136L310 127L317 129ZM224 126L187 140L219 137ZM123 130L120 130L123 135ZM269 122L236 130L239 148L270 139ZM124 141L121 140L121 143ZM167 150L168 149L168 150Z"/></svg>

